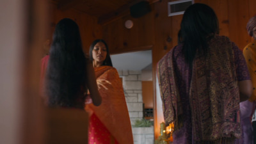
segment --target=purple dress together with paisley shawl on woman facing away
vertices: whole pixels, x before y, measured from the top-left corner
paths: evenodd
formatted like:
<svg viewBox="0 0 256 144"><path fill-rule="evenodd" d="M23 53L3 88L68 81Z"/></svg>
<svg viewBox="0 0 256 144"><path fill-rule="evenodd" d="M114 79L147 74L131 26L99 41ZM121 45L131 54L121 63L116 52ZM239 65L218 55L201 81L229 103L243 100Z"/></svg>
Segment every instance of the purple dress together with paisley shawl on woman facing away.
<svg viewBox="0 0 256 144"><path fill-rule="evenodd" d="M234 48L227 37L216 35L207 56L196 54L192 67L184 62L182 45L159 61L164 120L175 123L173 143L234 143L241 138L237 81L250 76ZM245 69L238 75L246 76L237 78L237 67Z"/></svg>

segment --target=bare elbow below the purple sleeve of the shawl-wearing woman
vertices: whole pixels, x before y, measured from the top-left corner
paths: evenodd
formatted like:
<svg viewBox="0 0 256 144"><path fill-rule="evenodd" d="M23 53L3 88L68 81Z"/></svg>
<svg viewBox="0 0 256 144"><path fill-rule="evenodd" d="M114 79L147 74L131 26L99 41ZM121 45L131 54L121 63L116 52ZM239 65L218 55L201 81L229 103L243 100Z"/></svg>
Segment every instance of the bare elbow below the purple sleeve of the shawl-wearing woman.
<svg viewBox="0 0 256 144"><path fill-rule="evenodd" d="M248 100L249 97L252 95L252 81L238 81L238 87L240 92L240 102Z"/></svg>

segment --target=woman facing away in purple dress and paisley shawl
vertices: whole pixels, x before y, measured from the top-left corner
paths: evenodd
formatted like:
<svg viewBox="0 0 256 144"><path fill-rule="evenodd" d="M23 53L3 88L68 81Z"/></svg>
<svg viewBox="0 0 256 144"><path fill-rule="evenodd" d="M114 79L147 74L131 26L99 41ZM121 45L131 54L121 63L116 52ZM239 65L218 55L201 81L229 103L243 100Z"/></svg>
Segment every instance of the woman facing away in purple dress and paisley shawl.
<svg viewBox="0 0 256 144"><path fill-rule="evenodd" d="M180 24L180 44L158 63L166 125L174 122L173 143L236 143L243 137L239 102L252 94L242 52L219 36L209 6L196 3Z"/></svg>

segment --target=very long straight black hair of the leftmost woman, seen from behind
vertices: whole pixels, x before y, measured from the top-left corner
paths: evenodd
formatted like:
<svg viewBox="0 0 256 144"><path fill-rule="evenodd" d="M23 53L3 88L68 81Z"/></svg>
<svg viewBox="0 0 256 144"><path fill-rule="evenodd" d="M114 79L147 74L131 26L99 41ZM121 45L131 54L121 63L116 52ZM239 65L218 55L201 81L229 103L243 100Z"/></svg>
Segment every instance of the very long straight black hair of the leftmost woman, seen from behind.
<svg viewBox="0 0 256 144"><path fill-rule="evenodd" d="M85 88L86 63L79 28L72 19L56 25L45 76L49 106L76 107ZM86 89L86 88L85 88Z"/></svg>

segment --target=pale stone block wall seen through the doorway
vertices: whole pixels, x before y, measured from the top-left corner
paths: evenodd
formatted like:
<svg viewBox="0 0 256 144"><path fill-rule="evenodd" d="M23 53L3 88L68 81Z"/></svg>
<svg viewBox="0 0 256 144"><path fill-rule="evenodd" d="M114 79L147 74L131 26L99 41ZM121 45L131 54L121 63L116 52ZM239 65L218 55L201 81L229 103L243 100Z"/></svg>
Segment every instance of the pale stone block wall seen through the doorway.
<svg viewBox="0 0 256 144"><path fill-rule="evenodd" d="M143 118L141 71L118 70L122 77L131 124ZM134 144L153 144L154 127L132 127Z"/></svg>

